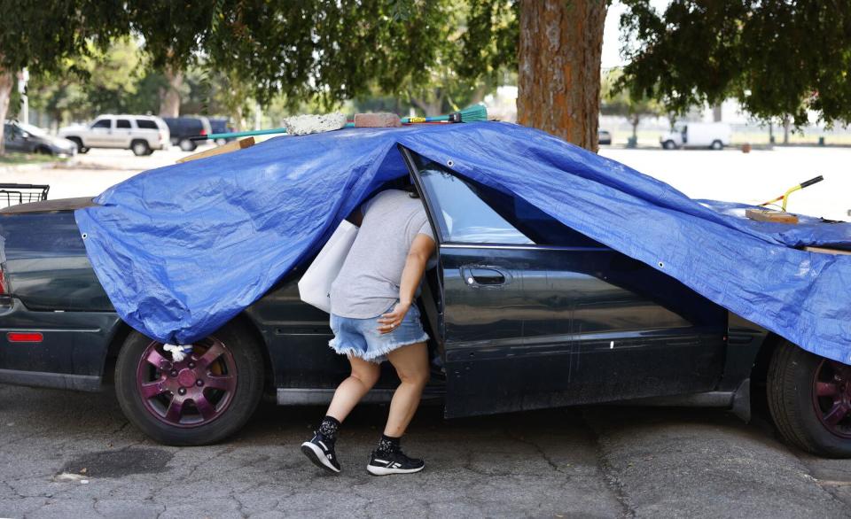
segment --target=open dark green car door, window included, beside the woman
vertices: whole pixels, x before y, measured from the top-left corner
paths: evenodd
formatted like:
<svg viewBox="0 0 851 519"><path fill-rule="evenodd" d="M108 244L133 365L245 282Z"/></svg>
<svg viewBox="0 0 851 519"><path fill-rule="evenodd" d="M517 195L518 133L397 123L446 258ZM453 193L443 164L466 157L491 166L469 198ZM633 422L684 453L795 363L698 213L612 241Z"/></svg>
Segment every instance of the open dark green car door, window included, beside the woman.
<svg viewBox="0 0 851 519"><path fill-rule="evenodd" d="M439 241L447 417L710 391L727 312L402 148Z"/></svg>

